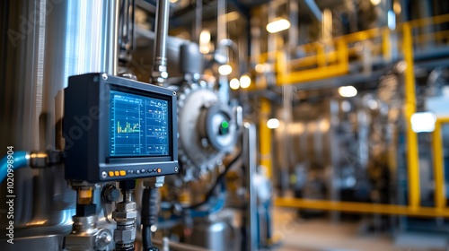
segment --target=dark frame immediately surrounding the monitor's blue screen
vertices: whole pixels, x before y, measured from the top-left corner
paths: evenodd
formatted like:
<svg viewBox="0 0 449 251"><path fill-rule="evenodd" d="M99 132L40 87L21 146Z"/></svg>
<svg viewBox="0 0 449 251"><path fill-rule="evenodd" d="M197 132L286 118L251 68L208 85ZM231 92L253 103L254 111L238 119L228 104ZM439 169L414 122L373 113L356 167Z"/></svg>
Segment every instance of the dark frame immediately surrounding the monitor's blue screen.
<svg viewBox="0 0 449 251"><path fill-rule="evenodd" d="M107 142L106 147L104 147L103 151L101 152L104 156L104 158L101 158L105 160L106 164L140 164L145 162L163 162L163 161L173 161L175 160L174 157L174 149L173 149L173 141L177 139L173 139L175 136L173 133L173 127L175 126L173 123L173 97L169 93L163 93L158 90L154 90L154 86L149 86L148 84L143 84L140 82L133 82L129 81L125 82L126 84L119 84L120 82L104 82L104 96L107 97L103 102L101 102L101 106L103 107L101 110L107 114L107 119L104 119L104 125L101 125L101 128L103 128L103 132L101 133L103 135L103 139ZM129 84L129 83L135 83L135 84ZM152 88L153 87L153 88ZM168 145L169 145L169 152L168 155L157 155L157 156L148 156L148 155L141 155L141 156L112 156L110 154L110 139L112 137L111 130L110 130L110 99L111 99L111 93L110 91L119 91L129 94L134 94L138 96L153 98L157 100L166 100L168 103ZM174 115L177 116L177 115ZM177 153L176 153L177 154Z"/></svg>

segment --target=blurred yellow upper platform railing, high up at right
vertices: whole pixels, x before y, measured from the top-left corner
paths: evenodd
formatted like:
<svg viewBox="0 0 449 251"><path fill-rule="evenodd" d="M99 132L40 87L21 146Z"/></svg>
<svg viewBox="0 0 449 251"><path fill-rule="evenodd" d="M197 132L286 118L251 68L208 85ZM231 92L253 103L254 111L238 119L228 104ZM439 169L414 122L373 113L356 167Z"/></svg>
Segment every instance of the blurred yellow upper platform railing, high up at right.
<svg viewBox="0 0 449 251"><path fill-rule="evenodd" d="M315 41L309 44L301 45L295 48L295 50L301 50L304 52L305 56L301 58L292 58L288 61L286 60L286 56L282 58L283 61L277 61L276 64L280 64L285 66L282 68L282 77L278 77L277 84L292 84L297 82L308 82L318 79L326 79L330 77L335 77L342 73L342 69L348 69L348 65L343 66L339 64L338 61L341 61L338 57L339 49L342 47L337 46L339 41L343 41L346 44L346 50L348 51L347 56L356 56L353 59L357 59L357 48L354 47L358 42L370 39L379 39L382 41L382 45L379 50L373 49L373 56L382 56L384 62L391 62L392 60L392 34L401 34L402 38L398 37L398 41L402 45L403 43L403 32L404 27L407 29L416 29L428 25L435 25L438 23L449 22L449 14L429 17L420 20L414 20L410 22L404 22L398 24L398 28L396 30L390 30L387 27L383 28L374 28L370 30L362 30L357 31L355 33L351 33L348 35L343 35L334 38L333 42L330 44L323 44L321 41ZM449 30L438 30L429 34L416 34L411 36L413 40L413 44L420 44L423 41L428 40L442 40L449 38ZM402 41L401 41L402 39ZM324 49L327 48L327 49ZM257 63L265 63L268 59L274 58L277 55L278 57L279 51L270 51L266 53L260 54L260 58ZM405 57L405 55L403 55ZM275 63L275 62L271 62ZM349 60L348 60L349 63ZM332 66L335 65L335 66ZM329 66L332 66L328 68ZM278 65L275 67L276 69L280 69ZM304 77L300 77L299 75L304 75Z"/></svg>

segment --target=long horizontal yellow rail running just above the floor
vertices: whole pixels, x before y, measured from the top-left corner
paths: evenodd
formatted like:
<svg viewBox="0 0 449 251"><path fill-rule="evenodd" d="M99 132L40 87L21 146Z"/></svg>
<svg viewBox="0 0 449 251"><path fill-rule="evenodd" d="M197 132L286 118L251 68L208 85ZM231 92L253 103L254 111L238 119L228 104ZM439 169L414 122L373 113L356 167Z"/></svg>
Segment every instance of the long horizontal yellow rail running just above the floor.
<svg viewBox="0 0 449 251"><path fill-rule="evenodd" d="M438 210L433 207L412 208L407 205L380 204L380 203L351 203L333 202L298 198L277 198L276 206L293 207L300 209L314 209L339 212L360 212L407 215L414 217L445 217L449 218L449 210Z"/></svg>

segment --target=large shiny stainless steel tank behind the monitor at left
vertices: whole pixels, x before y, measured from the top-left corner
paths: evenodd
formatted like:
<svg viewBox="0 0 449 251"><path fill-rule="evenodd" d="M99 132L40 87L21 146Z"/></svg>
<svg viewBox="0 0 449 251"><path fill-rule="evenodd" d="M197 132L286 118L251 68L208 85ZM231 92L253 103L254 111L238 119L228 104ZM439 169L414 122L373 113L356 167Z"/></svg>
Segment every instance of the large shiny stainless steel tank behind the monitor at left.
<svg viewBox="0 0 449 251"><path fill-rule="evenodd" d="M118 1L6 0L0 28L0 155L62 149L62 90L74 74L116 74ZM72 223L75 193L63 169L19 169L14 176L14 245L60 250ZM5 197L5 184L0 197ZM6 228L0 204L0 229ZM4 238L4 234L1 238ZM0 239L3 244L3 240ZM5 250L2 248L2 250Z"/></svg>

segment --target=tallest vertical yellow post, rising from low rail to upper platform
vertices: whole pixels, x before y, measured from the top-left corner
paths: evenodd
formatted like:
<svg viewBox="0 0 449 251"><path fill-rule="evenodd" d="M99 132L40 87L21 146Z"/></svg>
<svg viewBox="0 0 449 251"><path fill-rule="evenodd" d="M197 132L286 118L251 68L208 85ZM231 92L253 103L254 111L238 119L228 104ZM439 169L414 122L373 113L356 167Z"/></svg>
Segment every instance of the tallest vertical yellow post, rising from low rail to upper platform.
<svg viewBox="0 0 449 251"><path fill-rule="evenodd" d="M411 116L416 111L415 73L413 69L413 44L409 23L403 25L403 50L407 64L405 70L405 118L407 123L407 166L409 171L409 205L418 207L419 195L419 165L418 137L411 129Z"/></svg>

